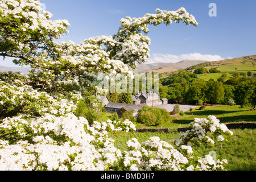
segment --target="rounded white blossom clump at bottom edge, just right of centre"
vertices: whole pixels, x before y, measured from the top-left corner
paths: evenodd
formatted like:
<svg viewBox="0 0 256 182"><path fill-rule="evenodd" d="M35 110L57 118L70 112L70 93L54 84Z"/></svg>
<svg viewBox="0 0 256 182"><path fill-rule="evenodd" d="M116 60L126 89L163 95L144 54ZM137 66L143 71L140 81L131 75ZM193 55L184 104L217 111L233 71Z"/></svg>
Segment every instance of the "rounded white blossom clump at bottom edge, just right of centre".
<svg viewBox="0 0 256 182"><path fill-rule="evenodd" d="M159 137L151 137L142 143L133 138L127 145L134 151L126 152L124 163L133 170L181 170L188 163L188 159L181 152Z"/></svg>

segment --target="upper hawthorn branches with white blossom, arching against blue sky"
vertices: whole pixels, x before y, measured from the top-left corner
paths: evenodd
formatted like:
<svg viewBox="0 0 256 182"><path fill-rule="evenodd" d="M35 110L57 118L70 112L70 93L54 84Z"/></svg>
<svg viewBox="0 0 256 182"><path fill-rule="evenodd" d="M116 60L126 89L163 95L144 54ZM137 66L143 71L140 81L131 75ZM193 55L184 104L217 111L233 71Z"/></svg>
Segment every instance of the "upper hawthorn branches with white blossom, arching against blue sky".
<svg viewBox="0 0 256 182"><path fill-rule="evenodd" d="M121 19L121 27L113 36L98 36L75 44L72 41L54 42L67 34L67 20L51 20L52 14L42 11L39 0L0 1L0 55L14 57L14 63L30 65L31 86L53 94L72 90L95 89L90 73L125 73L146 62L150 38L148 24L170 25L184 22L197 26L195 17L184 8L146 14L142 18ZM38 80L43 76L44 79ZM47 81L46 81L47 80ZM67 80L65 89L61 85Z"/></svg>

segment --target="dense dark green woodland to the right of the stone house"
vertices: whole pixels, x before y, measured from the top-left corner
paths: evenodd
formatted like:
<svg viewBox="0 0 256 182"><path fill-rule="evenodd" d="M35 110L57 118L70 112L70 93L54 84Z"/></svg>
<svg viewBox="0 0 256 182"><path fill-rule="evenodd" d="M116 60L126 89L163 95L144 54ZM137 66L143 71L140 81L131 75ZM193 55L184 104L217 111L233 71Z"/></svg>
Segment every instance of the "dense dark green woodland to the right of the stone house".
<svg viewBox="0 0 256 182"><path fill-rule="evenodd" d="M218 80L205 81L195 73L180 71L160 78L160 97L167 98L169 103L200 105L205 102L229 105L229 100L233 100L242 107L255 106L256 78L235 73L232 78L226 80L227 75L228 73L224 73Z"/></svg>

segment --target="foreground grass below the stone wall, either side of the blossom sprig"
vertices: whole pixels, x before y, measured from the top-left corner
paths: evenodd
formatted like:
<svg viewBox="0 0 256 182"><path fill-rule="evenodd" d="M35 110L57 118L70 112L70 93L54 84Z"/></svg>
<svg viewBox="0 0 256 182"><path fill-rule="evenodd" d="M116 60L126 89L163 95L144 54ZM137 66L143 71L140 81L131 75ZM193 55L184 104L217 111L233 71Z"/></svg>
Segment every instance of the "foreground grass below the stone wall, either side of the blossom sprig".
<svg viewBox="0 0 256 182"><path fill-rule="evenodd" d="M234 135L228 137L228 141L216 142L212 145L203 145L195 147L194 152L198 156L205 156L210 151L216 152L217 156L221 159L227 159L229 164L226 168L232 171L255 171L256 170L256 130L253 129L232 129ZM119 131L118 133L111 134L115 140L115 146L120 150L128 150L126 142L131 138L137 138L139 142L148 140L150 137L159 137L168 143L175 146L172 141L179 136L177 132L171 133L139 133Z"/></svg>

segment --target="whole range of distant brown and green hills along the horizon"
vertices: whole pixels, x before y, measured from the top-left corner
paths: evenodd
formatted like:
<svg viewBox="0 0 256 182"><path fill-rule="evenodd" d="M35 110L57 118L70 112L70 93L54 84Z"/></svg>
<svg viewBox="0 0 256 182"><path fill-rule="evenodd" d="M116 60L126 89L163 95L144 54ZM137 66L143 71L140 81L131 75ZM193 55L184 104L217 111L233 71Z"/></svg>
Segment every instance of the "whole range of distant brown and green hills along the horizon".
<svg viewBox="0 0 256 182"><path fill-rule="evenodd" d="M251 56L243 56L243 57L237 57L234 59L225 59L220 61L195 61L195 60L183 60L178 63L153 63L153 64L138 64L138 68L136 71L133 71L134 73L146 73L146 72L155 72L155 73L172 73L175 71L178 71L180 69L184 69L187 71L193 71L197 68L207 68L208 70L210 68L217 68L221 73L208 73L208 75L200 75L200 77L212 77L217 76L217 74L222 73L234 73L234 72L240 72L241 74L247 73L248 71L251 71L254 75L256 74L256 55ZM29 70L31 68L21 68L21 67L4 67L0 65L0 72L21 72L24 75L28 75Z"/></svg>

